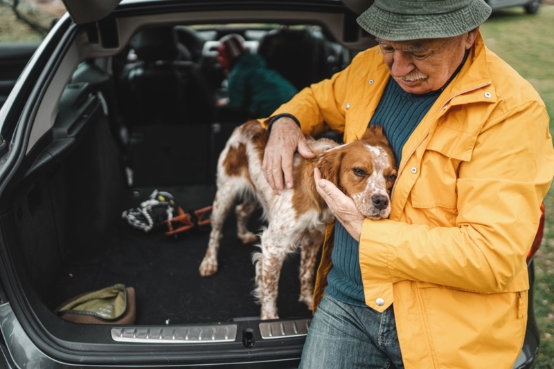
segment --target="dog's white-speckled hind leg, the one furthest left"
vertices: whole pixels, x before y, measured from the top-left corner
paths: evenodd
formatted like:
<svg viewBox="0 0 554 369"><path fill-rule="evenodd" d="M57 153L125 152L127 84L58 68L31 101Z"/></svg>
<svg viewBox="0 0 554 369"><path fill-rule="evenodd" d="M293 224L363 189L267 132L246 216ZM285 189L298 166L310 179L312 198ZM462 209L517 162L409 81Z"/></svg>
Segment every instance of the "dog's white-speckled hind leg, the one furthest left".
<svg viewBox="0 0 554 369"><path fill-rule="evenodd" d="M223 236L222 227L227 214L229 214L229 210L233 206L234 200L235 191L231 187L223 185L223 181L219 182L217 193L215 193L215 199L213 200L211 215L212 230L208 249L199 267L200 275L202 276L211 276L217 272L217 251L220 249L220 241Z"/></svg>

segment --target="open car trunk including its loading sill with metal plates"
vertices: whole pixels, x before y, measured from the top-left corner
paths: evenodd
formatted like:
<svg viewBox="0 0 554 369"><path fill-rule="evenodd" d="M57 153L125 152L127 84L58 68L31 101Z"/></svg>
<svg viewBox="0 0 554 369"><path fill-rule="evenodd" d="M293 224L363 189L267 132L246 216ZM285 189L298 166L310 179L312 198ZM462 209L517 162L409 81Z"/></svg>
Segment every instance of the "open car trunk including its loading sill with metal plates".
<svg viewBox="0 0 554 369"><path fill-rule="evenodd" d="M285 262L278 299L281 318L292 326L286 334L274 334L276 328L260 321L260 305L251 294L251 255L258 249L237 238L233 211L224 224L219 271L210 277L199 274L210 225L170 236L165 225L145 232L122 216L155 190L171 193L184 211L210 206L217 156L241 122L134 126L123 144L111 115L118 102L107 98L114 95L109 91L113 81L105 75L95 81L99 75L90 62L75 72L64 89L54 129L30 150L35 160L26 162L24 174L12 182L11 209L1 218L26 308L38 326L54 343L69 345L76 353L82 345L126 352L118 358L123 363L129 363L129 352L136 352L132 362L141 363L141 354L164 352L163 344L172 346L166 354L180 357L175 359L179 363L213 362L217 354L224 360L228 350L249 356L247 348L264 350L262 330L269 341L292 339L292 357L298 357L311 319L310 310L298 302L298 255ZM85 77L88 82L78 81ZM260 230L261 218L261 211L251 216L252 231ZM116 284L134 288L132 325L70 323L55 313L75 296ZM154 348L145 350L140 346L145 343ZM179 343L202 353L190 359L190 352L177 348ZM265 355L273 344L267 343Z"/></svg>

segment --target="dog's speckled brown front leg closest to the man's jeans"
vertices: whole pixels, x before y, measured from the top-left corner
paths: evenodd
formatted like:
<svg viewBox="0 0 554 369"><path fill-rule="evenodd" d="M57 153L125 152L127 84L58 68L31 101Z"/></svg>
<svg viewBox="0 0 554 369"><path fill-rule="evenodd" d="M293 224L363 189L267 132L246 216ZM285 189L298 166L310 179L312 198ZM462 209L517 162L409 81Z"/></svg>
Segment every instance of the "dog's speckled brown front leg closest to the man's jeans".
<svg viewBox="0 0 554 369"><path fill-rule="evenodd" d="M323 231L306 231L301 240L300 299L298 301L314 308L314 274L317 253L323 243Z"/></svg>

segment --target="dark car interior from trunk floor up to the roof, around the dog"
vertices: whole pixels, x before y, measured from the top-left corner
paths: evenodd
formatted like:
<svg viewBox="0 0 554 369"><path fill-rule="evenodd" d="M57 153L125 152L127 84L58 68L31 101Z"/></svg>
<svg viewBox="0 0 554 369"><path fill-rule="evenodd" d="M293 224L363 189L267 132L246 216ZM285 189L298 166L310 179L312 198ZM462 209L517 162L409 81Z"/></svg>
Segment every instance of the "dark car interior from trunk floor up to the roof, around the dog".
<svg viewBox="0 0 554 369"><path fill-rule="evenodd" d="M75 339L74 324L53 311L116 283L134 287L135 325L258 321L251 295L256 245L236 237L234 214L224 226L220 270L204 278L198 267L209 225L168 236L163 227L132 227L123 211L154 190L171 193L186 212L212 204L220 151L236 126L258 118L215 107L226 97L216 52L221 37L242 35L298 90L331 77L374 42L360 35L349 47L343 30L330 26L337 23L332 15L312 23L188 17L118 19L115 40L102 29L75 27L39 104L3 222L25 298L60 339ZM260 230L261 218L253 214L251 231ZM298 302L298 264L298 255L285 261L278 310L282 319L309 323L310 310ZM87 329L81 341L111 342L99 326Z"/></svg>

